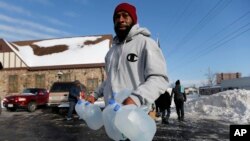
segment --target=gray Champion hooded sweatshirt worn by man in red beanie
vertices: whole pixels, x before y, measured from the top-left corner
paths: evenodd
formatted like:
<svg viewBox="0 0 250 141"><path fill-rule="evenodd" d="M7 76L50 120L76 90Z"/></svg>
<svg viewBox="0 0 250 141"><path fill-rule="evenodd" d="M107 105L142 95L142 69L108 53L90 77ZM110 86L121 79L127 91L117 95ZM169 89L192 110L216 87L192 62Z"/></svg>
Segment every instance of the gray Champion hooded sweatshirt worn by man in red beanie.
<svg viewBox="0 0 250 141"><path fill-rule="evenodd" d="M150 105L167 89L166 61L150 32L134 25L124 42L114 38L105 57L107 79L96 89L94 97L104 96L105 104L112 94L128 89L138 106ZM127 98L127 97L125 97ZM120 101L123 101L123 98Z"/></svg>

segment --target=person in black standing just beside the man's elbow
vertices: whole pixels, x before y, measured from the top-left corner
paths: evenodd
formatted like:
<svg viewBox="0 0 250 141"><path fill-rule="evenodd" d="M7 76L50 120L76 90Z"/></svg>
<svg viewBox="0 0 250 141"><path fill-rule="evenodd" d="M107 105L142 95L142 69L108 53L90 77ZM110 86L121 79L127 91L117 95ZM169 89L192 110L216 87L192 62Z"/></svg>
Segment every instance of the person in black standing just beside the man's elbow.
<svg viewBox="0 0 250 141"><path fill-rule="evenodd" d="M161 113L162 124L169 124L168 119L170 117L170 106L171 106L171 96L165 91L161 94L155 101L156 108L159 107ZM167 114L166 114L167 111Z"/></svg>

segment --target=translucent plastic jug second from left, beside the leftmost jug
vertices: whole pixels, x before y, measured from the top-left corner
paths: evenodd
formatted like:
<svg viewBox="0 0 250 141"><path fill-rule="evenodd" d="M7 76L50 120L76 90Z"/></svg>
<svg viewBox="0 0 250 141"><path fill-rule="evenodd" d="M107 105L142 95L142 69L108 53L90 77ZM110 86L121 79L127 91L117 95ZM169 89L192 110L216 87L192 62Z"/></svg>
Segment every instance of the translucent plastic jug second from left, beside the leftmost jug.
<svg viewBox="0 0 250 141"><path fill-rule="evenodd" d="M86 102L83 118L90 129L98 130L103 126L102 111L98 105Z"/></svg>

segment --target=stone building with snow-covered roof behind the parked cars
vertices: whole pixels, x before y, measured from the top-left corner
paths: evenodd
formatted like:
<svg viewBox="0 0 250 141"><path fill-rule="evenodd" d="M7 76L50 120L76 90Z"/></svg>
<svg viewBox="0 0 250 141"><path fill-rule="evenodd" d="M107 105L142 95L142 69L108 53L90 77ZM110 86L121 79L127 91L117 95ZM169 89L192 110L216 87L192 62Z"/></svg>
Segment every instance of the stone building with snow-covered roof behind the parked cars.
<svg viewBox="0 0 250 141"><path fill-rule="evenodd" d="M26 87L80 80L93 91L106 77L112 35L7 42L0 39L0 97Z"/></svg>

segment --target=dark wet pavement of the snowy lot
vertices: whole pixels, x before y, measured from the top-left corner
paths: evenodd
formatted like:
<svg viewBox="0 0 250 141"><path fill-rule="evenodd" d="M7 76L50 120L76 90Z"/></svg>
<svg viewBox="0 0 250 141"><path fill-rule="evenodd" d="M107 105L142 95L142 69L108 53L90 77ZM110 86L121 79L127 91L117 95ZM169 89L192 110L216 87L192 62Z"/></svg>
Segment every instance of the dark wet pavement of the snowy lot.
<svg viewBox="0 0 250 141"><path fill-rule="evenodd" d="M38 109L34 113L24 110L0 115L0 141L109 141L104 128L97 131L75 118L64 120L63 114L50 109ZM157 123L154 141L229 140L229 124L213 120L186 119L184 123L170 119L169 125Z"/></svg>

